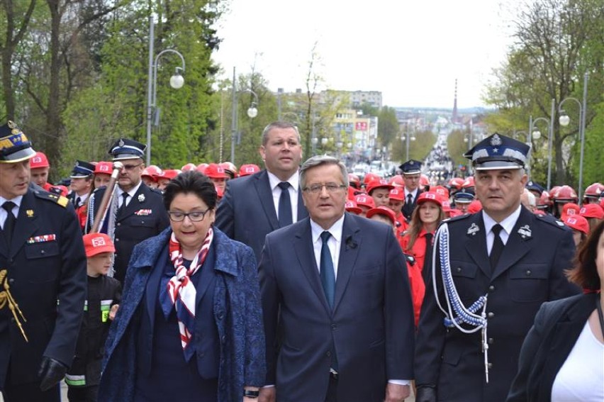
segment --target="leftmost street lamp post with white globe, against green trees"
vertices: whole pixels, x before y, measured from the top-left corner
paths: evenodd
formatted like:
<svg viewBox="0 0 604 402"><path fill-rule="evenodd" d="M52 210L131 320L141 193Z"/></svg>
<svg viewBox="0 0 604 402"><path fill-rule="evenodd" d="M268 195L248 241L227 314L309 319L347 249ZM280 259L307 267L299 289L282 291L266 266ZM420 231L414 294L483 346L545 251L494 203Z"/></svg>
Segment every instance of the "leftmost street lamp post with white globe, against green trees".
<svg viewBox="0 0 604 402"><path fill-rule="evenodd" d="M181 72L184 72L184 57L174 49L164 49L153 57L155 50L155 23L153 23L153 17L149 17L149 73L147 83L147 166L151 164L151 125L153 121L153 115L155 112L156 125L159 121L159 113L157 108L157 68L160 67L160 57L166 53L174 53L180 57L182 67L176 67L176 72L170 77L170 86L174 89L180 89L184 85L184 78Z"/></svg>

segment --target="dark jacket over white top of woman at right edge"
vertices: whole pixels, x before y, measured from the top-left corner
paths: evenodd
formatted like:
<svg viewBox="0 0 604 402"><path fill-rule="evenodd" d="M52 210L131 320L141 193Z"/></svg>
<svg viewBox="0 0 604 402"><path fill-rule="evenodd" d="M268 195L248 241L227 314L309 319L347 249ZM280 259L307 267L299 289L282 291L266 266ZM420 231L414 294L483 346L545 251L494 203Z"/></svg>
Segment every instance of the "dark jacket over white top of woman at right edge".
<svg viewBox="0 0 604 402"><path fill-rule="evenodd" d="M554 379L599 299L599 294L582 294L543 303L522 344L508 402L551 401Z"/></svg>

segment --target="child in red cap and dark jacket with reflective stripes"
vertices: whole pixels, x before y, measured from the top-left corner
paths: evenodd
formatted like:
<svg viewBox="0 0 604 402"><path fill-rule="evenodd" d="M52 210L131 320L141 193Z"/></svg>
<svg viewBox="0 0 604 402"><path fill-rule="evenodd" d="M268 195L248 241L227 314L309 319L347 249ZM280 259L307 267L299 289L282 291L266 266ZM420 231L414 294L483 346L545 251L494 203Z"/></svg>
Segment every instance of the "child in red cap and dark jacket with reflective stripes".
<svg viewBox="0 0 604 402"><path fill-rule="evenodd" d="M84 235L88 294L72 367L67 370L69 402L96 401L104 345L121 300L121 284L107 277L116 248L104 233Z"/></svg>

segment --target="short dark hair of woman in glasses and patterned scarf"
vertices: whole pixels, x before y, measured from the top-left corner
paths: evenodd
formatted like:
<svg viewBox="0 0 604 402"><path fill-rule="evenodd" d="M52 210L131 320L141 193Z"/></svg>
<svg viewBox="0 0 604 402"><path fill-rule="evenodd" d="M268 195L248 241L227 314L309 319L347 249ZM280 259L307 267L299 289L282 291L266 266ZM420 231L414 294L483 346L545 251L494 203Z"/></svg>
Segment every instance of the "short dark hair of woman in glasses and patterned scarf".
<svg viewBox="0 0 604 402"><path fill-rule="evenodd" d="M216 194L216 188L211 179L196 170L190 170L174 177L164 189L164 206L166 207L166 211L169 211L170 204L174 201L175 196L188 193L198 196L206 203L208 208L214 209L216 207L218 194Z"/></svg>

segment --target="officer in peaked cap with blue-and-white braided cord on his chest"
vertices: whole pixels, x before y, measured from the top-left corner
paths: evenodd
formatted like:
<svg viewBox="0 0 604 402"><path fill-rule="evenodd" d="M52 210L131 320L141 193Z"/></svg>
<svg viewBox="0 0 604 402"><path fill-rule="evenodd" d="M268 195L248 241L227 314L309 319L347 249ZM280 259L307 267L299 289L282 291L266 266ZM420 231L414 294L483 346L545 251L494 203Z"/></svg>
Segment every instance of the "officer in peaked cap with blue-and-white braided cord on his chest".
<svg viewBox="0 0 604 402"><path fill-rule="evenodd" d="M483 210L437 230L436 255L445 257L435 259L420 314L418 402L505 401L541 303L579 291L564 275L575 252L571 230L520 204L529 150L493 134L464 154Z"/></svg>

